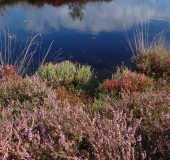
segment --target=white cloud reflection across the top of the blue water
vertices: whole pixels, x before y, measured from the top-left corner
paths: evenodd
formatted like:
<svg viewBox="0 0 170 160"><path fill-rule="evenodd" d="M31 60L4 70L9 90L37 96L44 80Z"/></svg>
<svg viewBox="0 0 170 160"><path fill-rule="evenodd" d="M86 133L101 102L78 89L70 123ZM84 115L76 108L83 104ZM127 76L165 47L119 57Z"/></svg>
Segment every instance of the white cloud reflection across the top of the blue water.
<svg viewBox="0 0 170 160"><path fill-rule="evenodd" d="M46 33L49 29L60 30L60 27L74 29L80 32L97 34L99 32L122 31L123 24L128 30L139 17L141 21L146 19L170 19L169 1L134 1L120 0L112 2L89 2L82 8L82 20L73 20L69 15L69 6L54 7L44 5L36 7L21 3L15 6L7 6L4 16L1 16L0 26L8 24L13 28L22 26L30 29L30 20L36 32ZM3 11L2 11L3 12Z"/></svg>

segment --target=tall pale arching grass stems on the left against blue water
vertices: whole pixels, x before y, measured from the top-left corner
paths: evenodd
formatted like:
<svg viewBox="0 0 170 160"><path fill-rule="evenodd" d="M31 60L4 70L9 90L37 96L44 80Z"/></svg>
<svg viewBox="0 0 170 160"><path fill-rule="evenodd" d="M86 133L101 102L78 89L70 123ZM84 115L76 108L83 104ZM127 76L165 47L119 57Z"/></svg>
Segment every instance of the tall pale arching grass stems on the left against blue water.
<svg viewBox="0 0 170 160"><path fill-rule="evenodd" d="M37 40L38 37L40 40ZM43 59L39 62L39 67L44 63L53 41L51 42ZM9 29L0 28L0 66L1 71L6 67L13 66L19 76L24 76L33 67L33 57L41 51L42 35L36 34L27 38L26 43L20 44L17 40L17 35L11 35ZM18 48L18 50L17 50ZM38 67L38 68L39 68ZM8 74L8 73L6 73Z"/></svg>

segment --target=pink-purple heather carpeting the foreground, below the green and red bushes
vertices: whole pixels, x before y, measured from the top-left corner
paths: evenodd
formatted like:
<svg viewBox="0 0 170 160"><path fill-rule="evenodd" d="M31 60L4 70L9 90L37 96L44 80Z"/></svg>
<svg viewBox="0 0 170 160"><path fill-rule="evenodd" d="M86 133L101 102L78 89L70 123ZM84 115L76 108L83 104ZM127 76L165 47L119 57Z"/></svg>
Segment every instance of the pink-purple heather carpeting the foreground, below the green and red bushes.
<svg viewBox="0 0 170 160"><path fill-rule="evenodd" d="M127 75L138 77L124 69L112 79L122 82ZM0 159L169 156L170 92L164 82L166 90L120 89L119 99L101 92L91 103L65 87L52 89L36 75L0 83Z"/></svg>

